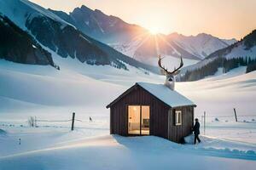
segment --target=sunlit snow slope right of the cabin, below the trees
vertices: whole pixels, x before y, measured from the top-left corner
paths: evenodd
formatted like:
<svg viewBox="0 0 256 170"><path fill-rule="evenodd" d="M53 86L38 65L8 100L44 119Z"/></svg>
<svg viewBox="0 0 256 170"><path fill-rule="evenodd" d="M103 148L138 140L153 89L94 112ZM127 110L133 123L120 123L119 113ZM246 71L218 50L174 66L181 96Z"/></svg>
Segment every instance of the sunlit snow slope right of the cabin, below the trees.
<svg viewBox="0 0 256 170"><path fill-rule="evenodd" d="M195 113L202 115L232 115L233 108L242 115L255 115L256 71L244 74L244 69L234 69L216 77L196 82L178 82L177 90L192 99Z"/></svg>

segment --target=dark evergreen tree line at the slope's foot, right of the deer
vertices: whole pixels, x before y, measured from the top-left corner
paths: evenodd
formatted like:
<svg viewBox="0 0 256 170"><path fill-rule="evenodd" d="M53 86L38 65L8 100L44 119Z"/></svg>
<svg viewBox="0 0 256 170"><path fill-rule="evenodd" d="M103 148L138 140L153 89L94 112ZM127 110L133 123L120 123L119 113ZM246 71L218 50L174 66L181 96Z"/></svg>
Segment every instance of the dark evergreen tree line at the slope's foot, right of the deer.
<svg viewBox="0 0 256 170"><path fill-rule="evenodd" d="M233 59L218 57L207 65L203 65L192 71L186 71L185 74L179 75L177 81L197 81L205 77L213 76L218 71L218 68L223 68L223 73L226 73L240 66L247 66L246 73L256 71L256 59L251 59L251 57L238 57Z"/></svg>

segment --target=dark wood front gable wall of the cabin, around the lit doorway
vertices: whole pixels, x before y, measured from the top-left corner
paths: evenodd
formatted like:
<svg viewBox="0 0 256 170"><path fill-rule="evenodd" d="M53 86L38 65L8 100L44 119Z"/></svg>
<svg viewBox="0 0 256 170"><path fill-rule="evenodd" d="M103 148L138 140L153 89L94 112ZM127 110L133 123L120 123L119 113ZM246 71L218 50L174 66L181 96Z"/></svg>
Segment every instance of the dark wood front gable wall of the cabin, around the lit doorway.
<svg viewBox="0 0 256 170"><path fill-rule="evenodd" d="M150 135L168 137L168 111L170 107L141 87L134 88L118 102L111 105L110 133L128 135L128 105L150 106Z"/></svg>

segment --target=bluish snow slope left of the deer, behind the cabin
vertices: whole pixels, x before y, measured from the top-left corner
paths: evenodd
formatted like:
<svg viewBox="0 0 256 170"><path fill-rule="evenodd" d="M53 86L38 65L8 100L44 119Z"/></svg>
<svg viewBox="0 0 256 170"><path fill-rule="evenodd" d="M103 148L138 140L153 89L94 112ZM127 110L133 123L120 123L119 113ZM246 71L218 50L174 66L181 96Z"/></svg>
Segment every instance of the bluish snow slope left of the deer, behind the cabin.
<svg viewBox="0 0 256 170"><path fill-rule="evenodd" d="M102 110L109 99L125 89L123 86L130 86L135 81L159 79L159 76L127 64L129 71L110 65L87 65L78 59L61 58L54 52L52 55L55 64L61 67L60 71L51 66L0 60L0 112L15 112L17 108L26 111L30 106L84 105L91 108L99 104Z"/></svg>

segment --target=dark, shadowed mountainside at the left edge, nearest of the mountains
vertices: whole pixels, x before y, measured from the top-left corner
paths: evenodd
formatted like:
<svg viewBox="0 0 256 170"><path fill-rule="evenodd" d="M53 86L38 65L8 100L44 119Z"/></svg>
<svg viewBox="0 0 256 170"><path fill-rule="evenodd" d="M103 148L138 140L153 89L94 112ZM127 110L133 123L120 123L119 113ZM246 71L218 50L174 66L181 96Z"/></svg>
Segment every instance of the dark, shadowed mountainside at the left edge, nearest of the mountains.
<svg viewBox="0 0 256 170"><path fill-rule="evenodd" d="M55 66L51 54L26 31L0 14L0 59L23 64Z"/></svg>

